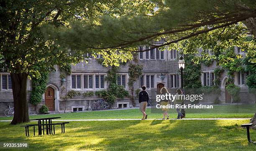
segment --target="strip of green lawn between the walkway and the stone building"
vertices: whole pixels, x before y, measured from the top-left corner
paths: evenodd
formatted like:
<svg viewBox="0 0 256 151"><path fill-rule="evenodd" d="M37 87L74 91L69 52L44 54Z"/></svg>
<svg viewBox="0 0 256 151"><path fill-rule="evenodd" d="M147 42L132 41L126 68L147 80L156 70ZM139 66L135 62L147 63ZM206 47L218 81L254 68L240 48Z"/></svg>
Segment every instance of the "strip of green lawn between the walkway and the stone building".
<svg viewBox="0 0 256 151"><path fill-rule="evenodd" d="M186 118L252 118L256 110L256 105L214 105L213 109L187 109ZM161 112L147 109L148 118L162 118ZM175 109L168 111L170 118L177 118ZM61 117L61 119L124 119L142 118L139 109L128 110L105 110L88 111L79 113L62 113L50 115L31 115L30 119L43 117ZM13 117L0 117L0 120L12 120Z"/></svg>

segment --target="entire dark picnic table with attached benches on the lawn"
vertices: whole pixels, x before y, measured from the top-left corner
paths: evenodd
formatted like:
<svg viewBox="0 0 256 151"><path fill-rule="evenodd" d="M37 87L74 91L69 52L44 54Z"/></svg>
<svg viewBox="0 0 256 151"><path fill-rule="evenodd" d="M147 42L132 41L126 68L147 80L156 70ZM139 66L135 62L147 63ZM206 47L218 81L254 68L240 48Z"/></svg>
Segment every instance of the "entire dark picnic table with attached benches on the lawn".
<svg viewBox="0 0 256 151"><path fill-rule="evenodd" d="M37 120L37 124L28 124L28 125L22 125L20 127L25 127L26 136L29 136L29 127L33 127L34 136L35 136L35 126L38 126L38 135L44 135L44 130L46 130L46 134L55 134L55 125L61 125L61 133L65 133L65 124L69 122L59 122L59 123L52 123L52 119L57 119L60 117L52 117L52 118L36 118L31 119L30 121ZM45 120L45 123L44 123ZM48 123L47 123L48 121ZM43 127L43 128L42 128Z"/></svg>

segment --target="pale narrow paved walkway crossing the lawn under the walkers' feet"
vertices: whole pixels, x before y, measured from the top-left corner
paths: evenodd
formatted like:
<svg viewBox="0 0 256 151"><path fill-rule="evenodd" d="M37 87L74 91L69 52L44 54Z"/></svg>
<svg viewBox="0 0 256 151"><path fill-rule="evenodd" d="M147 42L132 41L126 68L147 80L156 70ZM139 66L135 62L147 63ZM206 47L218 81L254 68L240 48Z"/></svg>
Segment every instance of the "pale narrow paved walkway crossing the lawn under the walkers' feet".
<svg viewBox="0 0 256 151"><path fill-rule="evenodd" d="M251 118L183 118L170 120L250 120ZM52 120L52 121L108 121L108 120L141 120L140 118L127 118L127 119L90 119L90 120ZM161 118L148 118L147 120L162 120ZM11 120L0 120L0 122L11 122Z"/></svg>

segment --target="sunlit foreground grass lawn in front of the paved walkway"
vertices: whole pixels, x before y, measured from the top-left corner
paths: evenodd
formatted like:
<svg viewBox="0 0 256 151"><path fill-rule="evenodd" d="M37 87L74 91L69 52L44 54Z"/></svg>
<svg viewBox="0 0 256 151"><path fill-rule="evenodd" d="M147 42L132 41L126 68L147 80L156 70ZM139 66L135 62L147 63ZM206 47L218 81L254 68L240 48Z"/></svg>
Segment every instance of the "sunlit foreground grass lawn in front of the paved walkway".
<svg viewBox="0 0 256 151"><path fill-rule="evenodd" d="M27 142L26 151L255 151L256 148L248 144L246 129L241 128L248 120L72 121L64 134L57 127L55 135L30 137L25 136L20 125L9 123L0 122L0 142ZM256 140L256 131L251 130L251 138Z"/></svg>

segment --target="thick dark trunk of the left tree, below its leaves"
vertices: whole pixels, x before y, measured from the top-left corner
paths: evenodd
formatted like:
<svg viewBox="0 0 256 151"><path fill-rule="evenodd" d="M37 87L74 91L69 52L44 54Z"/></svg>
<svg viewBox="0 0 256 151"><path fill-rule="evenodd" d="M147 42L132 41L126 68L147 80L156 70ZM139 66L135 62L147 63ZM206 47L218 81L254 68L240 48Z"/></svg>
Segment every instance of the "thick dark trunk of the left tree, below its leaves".
<svg viewBox="0 0 256 151"><path fill-rule="evenodd" d="M27 78L26 73L10 73L13 86L14 117L11 124L28 122Z"/></svg>

